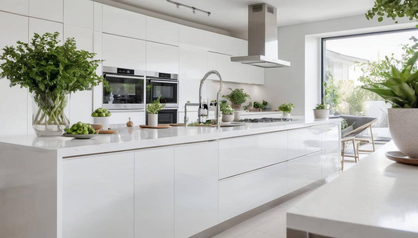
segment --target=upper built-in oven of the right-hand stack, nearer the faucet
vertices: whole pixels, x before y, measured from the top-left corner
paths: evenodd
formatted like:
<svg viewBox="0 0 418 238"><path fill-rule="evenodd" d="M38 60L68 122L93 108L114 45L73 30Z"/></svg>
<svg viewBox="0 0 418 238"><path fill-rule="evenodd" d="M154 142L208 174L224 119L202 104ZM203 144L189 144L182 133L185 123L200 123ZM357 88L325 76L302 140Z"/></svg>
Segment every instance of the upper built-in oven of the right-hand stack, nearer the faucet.
<svg viewBox="0 0 418 238"><path fill-rule="evenodd" d="M167 108L178 108L178 74L147 71L146 84L147 103L161 96Z"/></svg>

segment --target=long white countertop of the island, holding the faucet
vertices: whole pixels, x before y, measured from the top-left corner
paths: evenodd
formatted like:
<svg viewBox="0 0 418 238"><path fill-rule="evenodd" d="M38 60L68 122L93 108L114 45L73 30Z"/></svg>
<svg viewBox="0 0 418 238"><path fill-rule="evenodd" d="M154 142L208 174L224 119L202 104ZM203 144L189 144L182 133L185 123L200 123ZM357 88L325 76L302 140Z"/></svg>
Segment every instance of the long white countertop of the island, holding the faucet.
<svg viewBox="0 0 418 238"><path fill-rule="evenodd" d="M71 157L76 155L86 155L92 153L106 153L121 150L133 150L139 148L158 147L181 143L194 143L200 141L217 140L243 135L268 133L281 130L291 130L304 128L314 125L339 122L341 119L314 119L314 120L295 120L288 122L274 123L244 123L239 127L187 127L173 126L165 129L139 128L135 125L132 128L126 125L113 127L120 130L114 134L99 134L98 136L79 140L66 137L39 137L36 135L14 135L0 136L0 143L7 143L8 146L16 148L26 146L47 150L57 150L59 156Z"/></svg>

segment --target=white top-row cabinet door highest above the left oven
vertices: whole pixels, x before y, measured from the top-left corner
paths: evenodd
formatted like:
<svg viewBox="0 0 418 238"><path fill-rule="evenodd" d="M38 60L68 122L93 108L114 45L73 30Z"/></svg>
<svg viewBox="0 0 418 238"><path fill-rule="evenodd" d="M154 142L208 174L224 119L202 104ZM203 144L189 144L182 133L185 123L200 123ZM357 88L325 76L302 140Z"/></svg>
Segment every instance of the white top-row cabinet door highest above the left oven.
<svg viewBox="0 0 418 238"><path fill-rule="evenodd" d="M145 40L146 17L131 11L103 5L103 32Z"/></svg>

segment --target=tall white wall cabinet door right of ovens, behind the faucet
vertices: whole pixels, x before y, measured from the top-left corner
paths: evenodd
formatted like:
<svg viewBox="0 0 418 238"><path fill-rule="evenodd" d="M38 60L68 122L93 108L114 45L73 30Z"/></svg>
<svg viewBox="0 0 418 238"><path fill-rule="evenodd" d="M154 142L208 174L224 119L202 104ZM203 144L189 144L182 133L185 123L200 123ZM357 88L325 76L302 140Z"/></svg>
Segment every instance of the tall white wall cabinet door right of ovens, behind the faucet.
<svg viewBox="0 0 418 238"><path fill-rule="evenodd" d="M208 71L208 52L205 50L198 50L187 47L179 47L179 50L180 63L178 80L178 103L179 110L184 112L184 104L187 101L190 101L191 103L199 103L200 80ZM187 110L197 111L197 108L198 107L188 107ZM197 115L197 113L194 114ZM182 118L179 117L181 120Z"/></svg>

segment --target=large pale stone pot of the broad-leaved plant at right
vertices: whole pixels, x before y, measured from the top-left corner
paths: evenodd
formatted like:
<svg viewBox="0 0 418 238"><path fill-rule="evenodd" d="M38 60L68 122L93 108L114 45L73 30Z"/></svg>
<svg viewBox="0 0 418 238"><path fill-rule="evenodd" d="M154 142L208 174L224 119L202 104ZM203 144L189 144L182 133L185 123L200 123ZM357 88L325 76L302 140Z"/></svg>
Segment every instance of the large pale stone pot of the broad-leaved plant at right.
<svg viewBox="0 0 418 238"><path fill-rule="evenodd" d="M418 159L418 108L389 108L389 130L396 147Z"/></svg>

